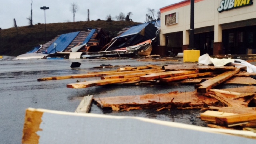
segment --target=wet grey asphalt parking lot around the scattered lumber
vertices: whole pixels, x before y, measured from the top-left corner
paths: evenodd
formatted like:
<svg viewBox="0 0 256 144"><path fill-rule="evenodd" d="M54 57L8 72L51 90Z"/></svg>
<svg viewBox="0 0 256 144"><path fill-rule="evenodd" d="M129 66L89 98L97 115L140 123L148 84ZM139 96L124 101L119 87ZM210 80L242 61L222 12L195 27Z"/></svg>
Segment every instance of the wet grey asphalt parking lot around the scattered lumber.
<svg viewBox="0 0 256 144"><path fill-rule="evenodd" d="M82 63L80 68L71 69L71 62ZM181 64L182 62L143 62L136 59L30 59L30 60L0 60L0 141L1 143L20 144L25 117L25 109L43 108L57 111L74 112L85 95L94 97L112 97L123 95L140 95L148 93L168 93L171 91L194 91L193 85L188 86L127 86L106 85L84 89L66 88L69 83L77 80L95 80L100 78L82 78L51 80L38 82L37 78L61 76L69 74L86 73L88 71L105 71L116 68L97 69L92 68L101 64L143 66L147 64L167 65ZM134 110L129 112L102 111L95 104L91 107L91 113L139 116L145 118L180 122L198 126L206 124L199 119L199 110Z"/></svg>

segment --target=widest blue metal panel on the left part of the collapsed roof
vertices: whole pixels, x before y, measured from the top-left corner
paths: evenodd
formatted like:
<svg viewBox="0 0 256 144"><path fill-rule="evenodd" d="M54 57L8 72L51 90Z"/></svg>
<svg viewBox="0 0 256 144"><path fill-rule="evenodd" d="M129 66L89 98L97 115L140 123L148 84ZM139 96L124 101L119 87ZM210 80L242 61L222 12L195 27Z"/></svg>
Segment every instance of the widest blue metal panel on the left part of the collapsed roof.
<svg viewBox="0 0 256 144"><path fill-rule="evenodd" d="M59 36L58 39L56 39L56 41L54 43L57 43L56 46L56 52L62 52L64 51L68 45L75 39L75 37L78 35L80 31L78 32L71 32L71 33L66 33L66 34L62 34ZM48 49L47 49L47 53L55 53L55 49L54 49L54 43L52 43Z"/></svg>

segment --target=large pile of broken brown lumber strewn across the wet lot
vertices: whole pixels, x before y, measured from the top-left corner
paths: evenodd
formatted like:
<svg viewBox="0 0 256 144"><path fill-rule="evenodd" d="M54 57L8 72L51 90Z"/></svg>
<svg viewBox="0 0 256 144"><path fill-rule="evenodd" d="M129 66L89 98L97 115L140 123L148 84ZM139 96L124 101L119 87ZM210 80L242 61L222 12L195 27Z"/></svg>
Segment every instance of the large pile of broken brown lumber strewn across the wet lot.
<svg viewBox="0 0 256 144"><path fill-rule="evenodd" d="M219 84L256 84L256 80L250 77L256 74L242 72L242 70L244 70L243 67L215 67L197 64L167 65L163 67L157 65L127 66L114 71L39 78L38 81L100 77L98 80L67 84L68 88L87 88L107 84L196 84L196 90L193 92L95 98L94 100L101 108L112 108L114 111L130 111L132 109L156 109L161 111L178 108L211 109L231 113L253 112L255 106L253 106L254 108L248 106L255 104L256 87L249 86L227 90L213 89Z"/></svg>

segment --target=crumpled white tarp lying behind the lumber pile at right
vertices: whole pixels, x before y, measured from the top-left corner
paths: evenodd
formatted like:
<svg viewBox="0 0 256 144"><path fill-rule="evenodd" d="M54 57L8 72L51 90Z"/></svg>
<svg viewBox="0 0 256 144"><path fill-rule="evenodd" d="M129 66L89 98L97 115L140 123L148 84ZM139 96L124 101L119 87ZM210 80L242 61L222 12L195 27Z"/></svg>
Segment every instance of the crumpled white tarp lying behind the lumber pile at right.
<svg viewBox="0 0 256 144"><path fill-rule="evenodd" d="M239 63L235 63L235 61L238 61ZM218 58L211 58L209 56L209 54L204 54L203 56L200 56L198 58L198 64L199 65L213 64L214 66L224 66L224 65L226 65L228 63L231 63L235 67L238 67L238 68L246 66L247 72L256 72L256 66L248 63L245 60L241 60L241 59L231 59L231 58L218 59Z"/></svg>

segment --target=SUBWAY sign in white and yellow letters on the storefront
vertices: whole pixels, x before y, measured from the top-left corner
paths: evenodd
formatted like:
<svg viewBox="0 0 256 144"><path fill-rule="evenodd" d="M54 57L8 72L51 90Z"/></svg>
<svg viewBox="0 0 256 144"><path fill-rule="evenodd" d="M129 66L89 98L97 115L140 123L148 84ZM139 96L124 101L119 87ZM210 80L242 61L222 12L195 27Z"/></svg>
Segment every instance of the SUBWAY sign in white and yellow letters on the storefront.
<svg viewBox="0 0 256 144"><path fill-rule="evenodd" d="M222 0L220 2L220 7L218 8L219 13L235 8L240 8L243 6L252 5L252 0Z"/></svg>

